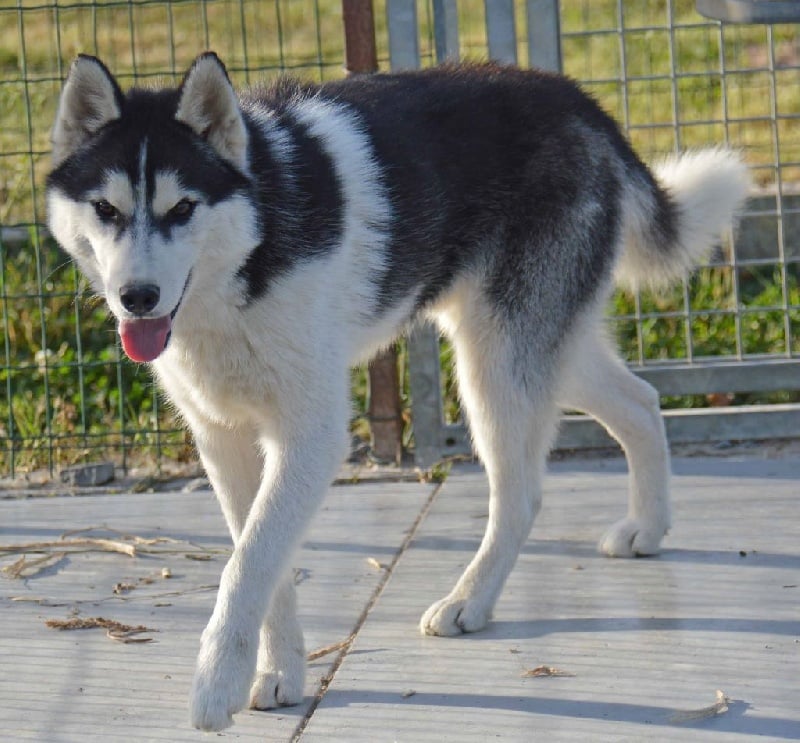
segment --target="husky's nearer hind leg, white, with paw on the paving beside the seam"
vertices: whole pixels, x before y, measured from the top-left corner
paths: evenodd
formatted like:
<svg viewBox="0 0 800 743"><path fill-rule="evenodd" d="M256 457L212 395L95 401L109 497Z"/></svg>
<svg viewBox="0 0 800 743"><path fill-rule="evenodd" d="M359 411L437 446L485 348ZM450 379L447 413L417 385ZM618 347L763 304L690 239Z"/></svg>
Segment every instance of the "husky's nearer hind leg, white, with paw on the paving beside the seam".
<svg viewBox="0 0 800 743"><path fill-rule="evenodd" d="M478 552L453 590L422 616L423 634L443 636L475 632L489 621L539 511L556 418L548 371L532 365L536 352L516 345L502 322L473 317L450 335L490 496Z"/></svg>

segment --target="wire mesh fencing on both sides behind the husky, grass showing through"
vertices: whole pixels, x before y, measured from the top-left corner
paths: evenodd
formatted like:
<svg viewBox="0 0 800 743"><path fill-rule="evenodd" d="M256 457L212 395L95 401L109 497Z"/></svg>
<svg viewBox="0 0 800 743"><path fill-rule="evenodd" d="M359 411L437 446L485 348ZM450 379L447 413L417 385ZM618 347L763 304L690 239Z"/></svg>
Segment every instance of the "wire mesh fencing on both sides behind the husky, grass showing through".
<svg viewBox="0 0 800 743"><path fill-rule="evenodd" d="M434 4L417 2L420 56L435 61ZM528 59L526 3L513 4ZM486 58L483 0L458 2L460 55ZM385 3L375 3L388 66ZM800 41L798 28L728 25L690 0L563 0L564 71L622 123L646 160L726 142L757 192L712 265L658 296L620 292L610 324L638 365L800 354ZM121 358L101 303L43 228L49 128L70 60L100 56L123 85L177 81L213 48L234 82L289 70L344 74L336 0L0 0L0 474L113 457L130 465L191 457L149 374ZM354 377L363 397L363 378ZM796 402L796 389L724 394L724 402ZM717 397L675 396L678 406ZM445 407L456 417L452 380ZM135 452L135 454L133 453Z"/></svg>

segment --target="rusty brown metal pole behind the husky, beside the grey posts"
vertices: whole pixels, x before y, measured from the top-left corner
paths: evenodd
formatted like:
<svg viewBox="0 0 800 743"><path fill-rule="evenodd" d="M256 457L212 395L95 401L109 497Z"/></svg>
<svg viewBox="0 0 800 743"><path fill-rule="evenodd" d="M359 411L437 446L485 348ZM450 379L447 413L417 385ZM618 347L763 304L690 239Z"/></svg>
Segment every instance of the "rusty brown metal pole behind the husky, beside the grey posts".
<svg viewBox="0 0 800 743"><path fill-rule="evenodd" d="M342 0L345 68L349 75L376 72L375 16L372 0ZM373 456L382 462L400 463L403 423L397 347L391 346L369 363L369 407Z"/></svg>

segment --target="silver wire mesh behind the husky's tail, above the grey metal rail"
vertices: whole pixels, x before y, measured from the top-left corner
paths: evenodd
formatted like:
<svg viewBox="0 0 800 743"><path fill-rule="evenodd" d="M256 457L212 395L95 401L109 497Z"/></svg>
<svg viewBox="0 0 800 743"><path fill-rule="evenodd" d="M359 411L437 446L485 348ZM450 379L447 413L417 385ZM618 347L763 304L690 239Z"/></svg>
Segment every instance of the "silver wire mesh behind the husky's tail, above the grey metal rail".
<svg viewBox="0 0 800 743"><path fill-rule="evenodd" d="M591 17L591 26L567 22L567 72L602 98L645 157L730 143L745 152L758 191L735 245L718 254L711 269L672 297L617 302L617 322L635 331L621 333L635 338L627 344L628 356L645 363L654 356L796 355L797 27L720 25L696 15L689 3L644 12L654 5L636 4L622 13L621 5L608 3L604 20L592 4L591 15L580 20ZM664 335L661 326L674 341L668 354L648 342L653 333Z"/></svg>

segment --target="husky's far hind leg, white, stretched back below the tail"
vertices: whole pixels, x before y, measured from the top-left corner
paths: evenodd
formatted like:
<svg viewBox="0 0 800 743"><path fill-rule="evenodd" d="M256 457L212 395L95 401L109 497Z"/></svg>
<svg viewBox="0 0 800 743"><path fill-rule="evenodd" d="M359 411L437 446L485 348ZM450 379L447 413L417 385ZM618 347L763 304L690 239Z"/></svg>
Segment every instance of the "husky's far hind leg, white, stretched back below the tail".
<svg viewBox="0 0 800 743"><path fill-rule="evenodd" d="M669 448L658 393L617 357L600 328L583 332L562 377L558 403L588 413L628 459L628 515L600 540L611 557L652 555L670 526Z"/></svg>

